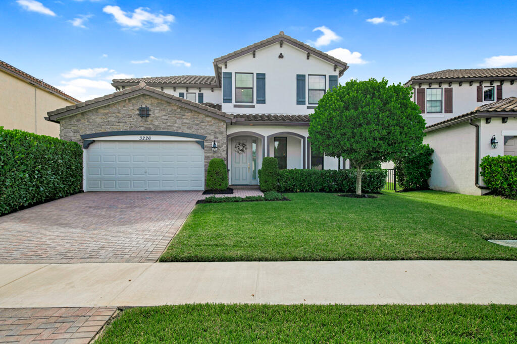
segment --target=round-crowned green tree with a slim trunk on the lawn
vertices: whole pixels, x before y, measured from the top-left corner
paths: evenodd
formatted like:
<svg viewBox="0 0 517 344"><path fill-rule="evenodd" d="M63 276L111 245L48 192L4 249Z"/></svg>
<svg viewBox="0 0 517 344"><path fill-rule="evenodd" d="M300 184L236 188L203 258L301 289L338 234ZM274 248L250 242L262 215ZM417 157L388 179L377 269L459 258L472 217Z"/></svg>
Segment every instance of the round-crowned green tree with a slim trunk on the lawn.
<svg viewBox="0 0 517 344"><path fill-rule="evenodd" d="M422 143L425 121L411 95L410 88L388 86L384 78L350 80L329 90L311 115L311 146L350 160L357 169L358 195L364 165L401 158Z"/></svg>

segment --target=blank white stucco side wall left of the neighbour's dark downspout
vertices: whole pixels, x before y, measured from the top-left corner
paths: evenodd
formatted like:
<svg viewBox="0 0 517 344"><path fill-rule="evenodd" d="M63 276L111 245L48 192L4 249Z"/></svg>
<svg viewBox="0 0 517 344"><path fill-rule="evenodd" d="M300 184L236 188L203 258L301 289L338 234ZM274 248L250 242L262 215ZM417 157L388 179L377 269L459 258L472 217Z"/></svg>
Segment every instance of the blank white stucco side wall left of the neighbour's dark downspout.
<svg viewBox="0 0 517 344"><path fill-rule="evenodd" d="M433 190L480 195L475 186L475 127L462 123L427 133L423 143L434 149L431 156Z"/></svg>

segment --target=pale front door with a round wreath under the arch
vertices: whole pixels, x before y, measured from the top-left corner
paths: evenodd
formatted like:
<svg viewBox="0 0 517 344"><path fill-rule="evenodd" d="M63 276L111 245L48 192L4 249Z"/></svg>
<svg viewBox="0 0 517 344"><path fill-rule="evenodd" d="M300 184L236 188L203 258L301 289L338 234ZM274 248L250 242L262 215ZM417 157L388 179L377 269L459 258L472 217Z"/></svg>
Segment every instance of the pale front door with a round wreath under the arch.
<svg viewBox="0 0 517 344"><path fill-rule="evenodd" d="M250 185L251 146L247 136L232 139L232 185Z"/></svg>

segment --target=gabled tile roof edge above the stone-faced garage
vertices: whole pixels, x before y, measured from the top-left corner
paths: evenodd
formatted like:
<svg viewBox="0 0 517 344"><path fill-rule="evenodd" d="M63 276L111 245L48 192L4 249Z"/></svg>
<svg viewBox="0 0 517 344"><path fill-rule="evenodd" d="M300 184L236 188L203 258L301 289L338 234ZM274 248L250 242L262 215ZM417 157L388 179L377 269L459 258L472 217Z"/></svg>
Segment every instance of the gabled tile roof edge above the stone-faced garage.
<svg viewBox="0 0 517 344"><path fill-rule="evenodd" d="M157 93L157 94L159 94L161 96L168 97L171 100L174 100L174 101L177 101L177 102L181 102L181 103L184 103L184 104L187 104L187 105L199 108L201 112L203 112L203 111L210 112L210 113L217 114L217 115L219 115L221 117L226 117L228 119L233 119L233 115L232 114L229 114L229 113L226 113L226 112L222 112L220 110L208 107L206 105L199 104L199 103L196 103L196 102L192 102L192 101L183 99L181 97L172 95L170 93L166 93L166 92L160 91L160 90L158 90L158 89L156 89L154 87L147 86L143 81L140 84L138 84L136 86L133 86L133 87L126 88L125 90L117 91L117 92L114 92L114 93L110 93L110 94L104 95L102 97L98 97L98 98L95 98L95 99L92 99L92 100L88 100L86 102L82 102L82 103L78 103L78 104L74 104L74 105L69 105L69 106L64 107L64 108L60 108L60 109L57 109L57 110L49 111L49 112L47 112L47 114L48 114L49 117L54 117L54 118L50 118L50 120L56 120L57 118L59 118L59 116L57 116L57 118L56 118L56 115L59 115L59 114L61 114L63 112L66 112L66 116L68 116L69 114L86 111L87 109L81 109L81 108L84 107L84 106L87 106L87 105L92 105L91 107L88 107L88 109L89 109L89 108L95 107L96 103L107 101L107 100L110 100L112 98L116 98L116 97L119 97L121 95L124 95L126 93L135 92L135 91L139 91L139 90L146 90L146 91L149 91L149 92ZM114 99L113 101L116 101L116 100ZM75 110L77 110L77 111L75 111Z"/></svg>

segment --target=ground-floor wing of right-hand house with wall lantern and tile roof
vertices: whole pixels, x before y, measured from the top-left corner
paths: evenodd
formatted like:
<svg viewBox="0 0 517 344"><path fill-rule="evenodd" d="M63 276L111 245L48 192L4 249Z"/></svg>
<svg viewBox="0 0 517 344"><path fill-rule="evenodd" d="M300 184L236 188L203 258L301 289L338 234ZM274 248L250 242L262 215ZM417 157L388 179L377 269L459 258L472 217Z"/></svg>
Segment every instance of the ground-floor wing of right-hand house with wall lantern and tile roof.
<svg viewBox="0 0 517 344"><path fill-rule="evenodd" d="M487 155L517 156L517 97L484 104L424 130L433 149L431 189L480 195L490 191L479 175ZM497 141L494 148L492 138ZM494 144L495 145L495 144Z"/></svg>

